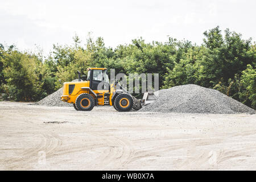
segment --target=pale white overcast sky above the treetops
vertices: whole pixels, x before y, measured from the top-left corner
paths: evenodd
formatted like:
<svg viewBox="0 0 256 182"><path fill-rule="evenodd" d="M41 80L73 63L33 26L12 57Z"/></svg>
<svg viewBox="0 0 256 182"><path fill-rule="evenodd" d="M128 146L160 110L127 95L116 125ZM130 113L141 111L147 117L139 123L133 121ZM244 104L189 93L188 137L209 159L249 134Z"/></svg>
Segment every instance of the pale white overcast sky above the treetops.
<svg viewBox="0 0 256 182"><path fill-rule="evenodd" d="M256 37L255 0L176 1L12 1L0 0L0 43L44 53L52 45L85 42L88 32L116 47L142 36L146 42L166 42L167 36L201 44L203 32L220 26Z"/></svg>

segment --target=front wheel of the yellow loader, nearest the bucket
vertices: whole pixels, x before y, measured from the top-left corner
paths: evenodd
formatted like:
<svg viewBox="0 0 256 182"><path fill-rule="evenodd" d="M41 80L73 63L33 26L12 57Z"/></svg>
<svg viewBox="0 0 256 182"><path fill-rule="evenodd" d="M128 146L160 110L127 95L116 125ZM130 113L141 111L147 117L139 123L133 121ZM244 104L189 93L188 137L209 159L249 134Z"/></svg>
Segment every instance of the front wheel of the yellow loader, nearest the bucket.
<svg viewBox="0 0 256 182"><path fill-rule="evenodd" d="M114 108L120 112L127 112L133 108L133 97L127 93L121 93L114 100Z"/></svg>

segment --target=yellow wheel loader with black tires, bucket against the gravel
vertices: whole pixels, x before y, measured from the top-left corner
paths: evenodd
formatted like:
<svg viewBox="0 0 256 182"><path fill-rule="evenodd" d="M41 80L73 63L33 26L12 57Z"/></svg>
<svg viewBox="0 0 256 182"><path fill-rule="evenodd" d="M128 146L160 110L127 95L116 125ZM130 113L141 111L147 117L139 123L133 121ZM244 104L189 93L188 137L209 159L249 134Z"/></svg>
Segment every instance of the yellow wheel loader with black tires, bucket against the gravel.
<svg viewBox="0 0 256 182"><path fill-rule="evenodd" d="M117 111L141 109L141 101L118 85L118 81L110 84L106 68L88 68L87 71L87 77L78 71L78 81L64 82L62 101L81 111L90 111L95 105L114 106Z"/></svg>

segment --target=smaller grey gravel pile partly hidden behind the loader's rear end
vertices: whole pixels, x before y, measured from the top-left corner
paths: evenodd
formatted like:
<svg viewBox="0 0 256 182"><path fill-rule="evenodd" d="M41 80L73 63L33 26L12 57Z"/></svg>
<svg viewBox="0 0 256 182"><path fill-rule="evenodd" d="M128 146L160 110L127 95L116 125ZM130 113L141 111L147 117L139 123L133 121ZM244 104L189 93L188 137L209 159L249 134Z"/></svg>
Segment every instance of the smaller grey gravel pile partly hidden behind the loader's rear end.
<svg viewBox="0 0 256 182"><path fill-rule="evenodd" d="M78 81L78 79L73 80ZM72 81L72 82L73 82ZM50 94L47 97L44 97L42 100L36 102L34 105L47 105L47 106L59 106L59 107L73 107L72 104L63 102L60 100L60 97L63 94L63 87L57 90L56 92Z"/></svg>

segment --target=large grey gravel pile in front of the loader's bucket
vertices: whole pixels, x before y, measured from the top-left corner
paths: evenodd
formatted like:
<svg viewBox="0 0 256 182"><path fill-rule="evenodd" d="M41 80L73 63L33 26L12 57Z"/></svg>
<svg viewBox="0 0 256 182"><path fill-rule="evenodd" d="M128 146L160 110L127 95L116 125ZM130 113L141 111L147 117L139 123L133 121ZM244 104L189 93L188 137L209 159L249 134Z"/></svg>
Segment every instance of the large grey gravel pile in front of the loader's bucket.
<svg viewBox="0 0 256 182"><path fill-rule="evenodd" d="M159 90L155 102L139 111L162 113L255 114L255 110L214 89L181 85Z"/></svg>

